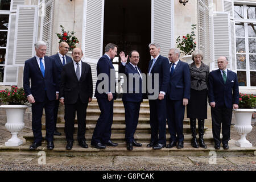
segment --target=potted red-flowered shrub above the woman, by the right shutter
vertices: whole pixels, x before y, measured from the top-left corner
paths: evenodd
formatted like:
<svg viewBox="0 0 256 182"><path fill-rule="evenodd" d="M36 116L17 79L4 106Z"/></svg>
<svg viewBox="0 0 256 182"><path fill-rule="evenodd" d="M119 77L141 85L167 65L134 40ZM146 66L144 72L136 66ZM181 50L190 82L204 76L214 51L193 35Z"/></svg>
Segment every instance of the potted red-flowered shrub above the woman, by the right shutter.
<svg viewBox="0 0 256 182"><path fill-rule="evenodd" d="M196 42L195 42L195 29L196 24L192 24L192 31L191 34L184 35L182 38L180 36L176 39L177 48L180 49L180 52L183 53L185 56L182 57L182 59L185 59L185 61L190 64L192 63L192 52L195 51L196 48Z"/></svg>

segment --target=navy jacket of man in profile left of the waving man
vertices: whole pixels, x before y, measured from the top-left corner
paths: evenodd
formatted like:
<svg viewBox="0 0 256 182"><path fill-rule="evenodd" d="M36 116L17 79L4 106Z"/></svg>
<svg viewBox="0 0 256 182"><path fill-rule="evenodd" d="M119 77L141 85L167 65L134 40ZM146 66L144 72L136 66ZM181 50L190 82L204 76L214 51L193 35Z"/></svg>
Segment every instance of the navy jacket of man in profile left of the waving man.
<svg viewBox="0 0 256 182"><path fill-rule="evenodd" d="M111 89L111 84L115 85L115 74L114 77L110 77L110 70L114 69L112 61L109 59L108 56L103 55L97 63L97 76L100 75L101 73L105 73L108 76L108 81L109 81L109 88L108 88L108 92L112 92L113 94L113 99L115 100L117 98L117 94L115 93L115 87L114 90L110 90ZM111 80L112 78L112 80ZM95 88L95 94L94 96L96 98L107 98L108 99L108 94L104 93L99 93L98 92L98 84L100 84L100 82L104 81L104 78L102 78L102 80L97 80L96 82L96 88ZM105 89L104 86L102 86L102 89Z"/></svg>

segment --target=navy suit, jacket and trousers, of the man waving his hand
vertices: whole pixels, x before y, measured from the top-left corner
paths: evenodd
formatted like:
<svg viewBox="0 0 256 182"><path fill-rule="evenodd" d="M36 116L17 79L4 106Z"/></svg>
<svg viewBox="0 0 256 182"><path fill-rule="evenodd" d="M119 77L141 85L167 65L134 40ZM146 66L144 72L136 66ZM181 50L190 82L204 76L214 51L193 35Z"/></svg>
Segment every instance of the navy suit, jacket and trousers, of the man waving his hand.
<svg viewBox="0 0 256 182"><path fill-rule="evenodd" d="M138 67L137 69L139 70L139 72L141 72L141 69L139 69ZM142 102L142 78L135 78L136 74L137 76L139 76L139 73L130 63L127 63L125 66L121 63L119 65L119 73L124 73L127 77L127 90L123 90L126 93L123 93L122 101L123 106L125 106L125 138L127 143L132 143L134 140L134 133L137 129L139 121L139 109ZM129 86L129 75L134 76L133 87ZM139 84L137 84L135 80L138 80ZM137 87L139 93L136 93L137 91L135 87Z"/></svg>

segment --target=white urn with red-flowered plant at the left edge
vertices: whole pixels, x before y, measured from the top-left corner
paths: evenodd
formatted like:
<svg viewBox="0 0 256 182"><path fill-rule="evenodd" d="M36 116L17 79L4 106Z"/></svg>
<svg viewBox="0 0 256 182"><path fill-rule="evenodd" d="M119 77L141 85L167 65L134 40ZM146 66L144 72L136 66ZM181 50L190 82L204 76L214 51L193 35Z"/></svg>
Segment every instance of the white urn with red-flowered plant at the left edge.
<svg viewBox="0 0 256 182"><path fill-rule="evenodd" d="M11 138L5 142L6 146L19 146L23 140L17 137L19 131L24 127L24 113L28 107L27 97L23 88L11 86L11 89L0 91L0 108L6 111L5 127L11 133Z"/></svg>

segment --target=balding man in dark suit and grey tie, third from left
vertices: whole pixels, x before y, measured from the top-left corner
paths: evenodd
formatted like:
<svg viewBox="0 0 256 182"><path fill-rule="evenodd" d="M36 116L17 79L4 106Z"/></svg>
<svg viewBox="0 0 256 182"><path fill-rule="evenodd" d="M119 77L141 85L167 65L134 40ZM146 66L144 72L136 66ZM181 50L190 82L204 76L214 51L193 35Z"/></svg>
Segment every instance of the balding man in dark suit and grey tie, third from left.
<svg viewBox="0 0 256 182"><path fill-rule="evenodd" d="M67 150L73 147L73 131L77 112L77 140L82 148L88 148L85 142L86 109L92 101L93 85L90 65L81 61L82 50L72 51L73 60L64 65L60 79L60 103L65 104L65 135Z"/></svg>

